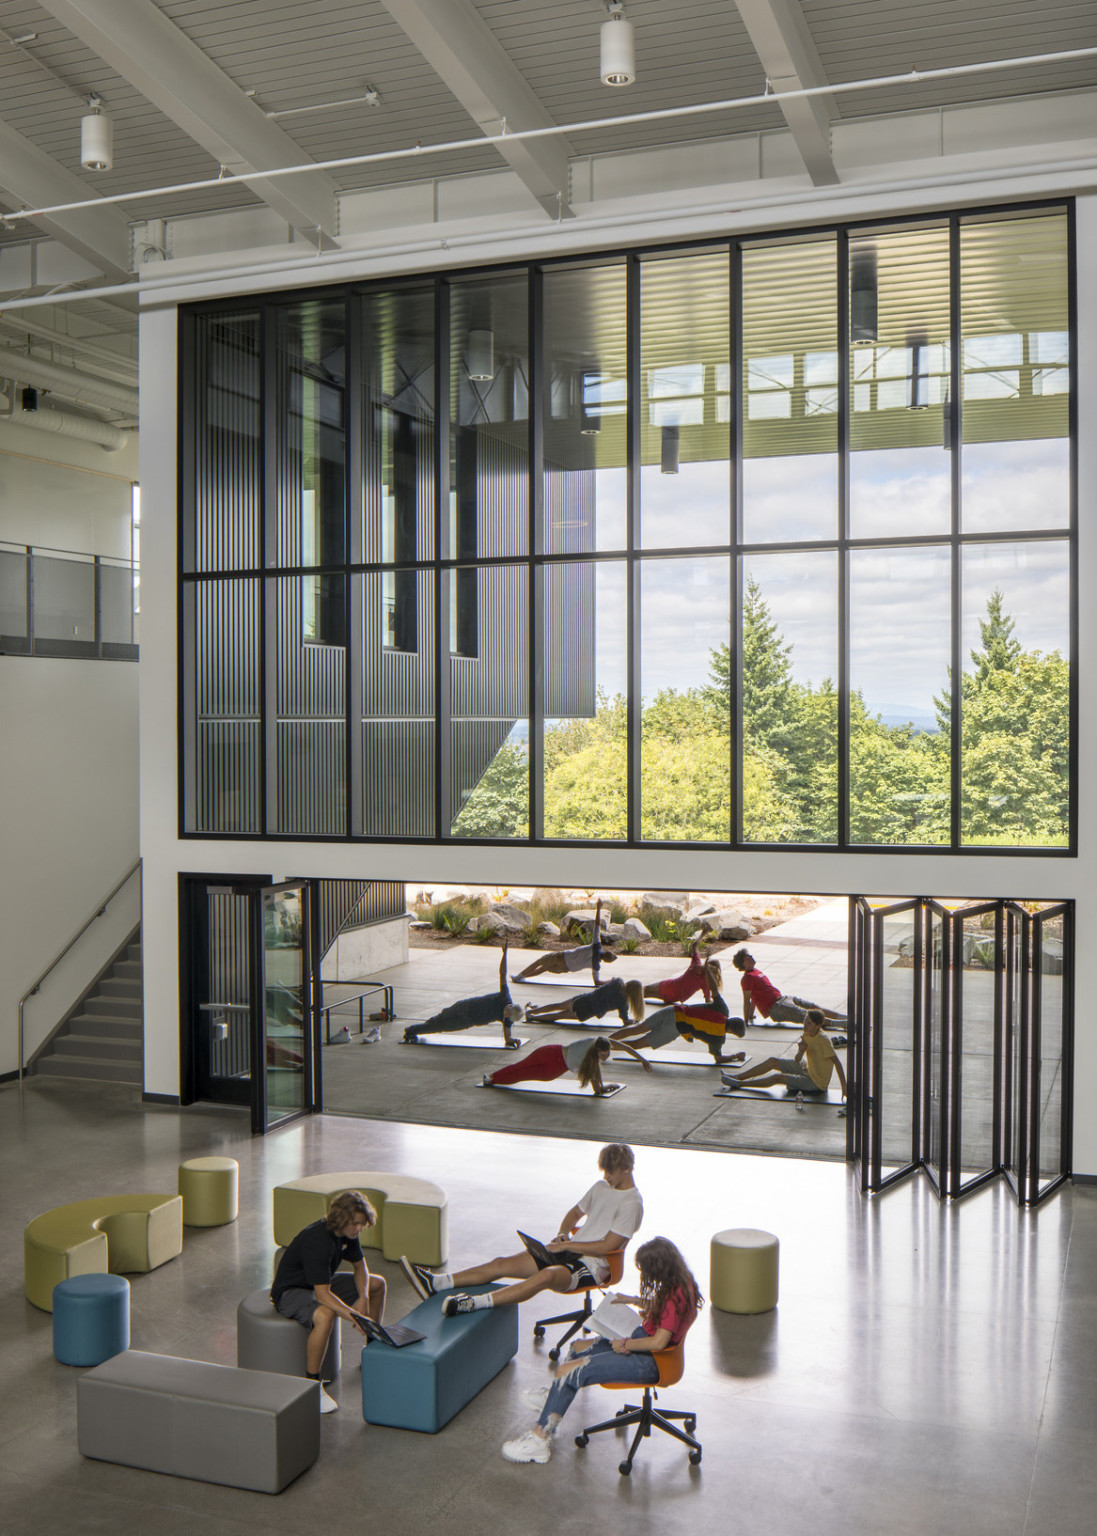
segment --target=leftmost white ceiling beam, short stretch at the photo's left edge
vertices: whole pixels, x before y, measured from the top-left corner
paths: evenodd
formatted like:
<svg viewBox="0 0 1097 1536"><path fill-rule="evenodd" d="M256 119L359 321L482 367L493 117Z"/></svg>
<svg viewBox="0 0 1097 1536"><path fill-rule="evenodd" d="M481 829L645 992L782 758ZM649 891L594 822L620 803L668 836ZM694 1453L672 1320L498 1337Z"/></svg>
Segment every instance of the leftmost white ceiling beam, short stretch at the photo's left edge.
<svg viewBox="0 0 1097 1536"><path fill-rule="evenodd" d="M29 138L0 121L0 195L12 210L49 207L86 198L88 186ZM129 221L120 209L83 207L35 218L32 223L98 267L104 276L123 278L129 273Z"/></svg>

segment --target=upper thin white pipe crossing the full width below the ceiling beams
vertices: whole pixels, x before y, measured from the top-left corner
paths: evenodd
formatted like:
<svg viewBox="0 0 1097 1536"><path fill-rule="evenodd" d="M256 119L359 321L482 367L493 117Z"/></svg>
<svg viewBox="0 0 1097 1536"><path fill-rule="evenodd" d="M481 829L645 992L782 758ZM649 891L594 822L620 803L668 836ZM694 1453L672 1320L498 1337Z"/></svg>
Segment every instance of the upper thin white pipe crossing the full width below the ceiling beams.
<svg viewBox="0 0 1097 1536"><path fill-rule="evenodd" d="M72 214L86 207L108 207L115 203L140 203L144 198L172 197L177 192L203 192L212 187L226 187L232 183L244 183L261 175L300 177L313 170L346 170L352 166L372 166L392 160L416 160L423 155L444 155L464 149L482 149L484 144L513 144L535 138L553 138L561 134L587 134L602 127L625 127L635 123L668 121L671 118L702 117L708 112L734 112L744 106L780 106L782 101L796 101L824 95L847 95L853 91L876 91L882 86L925 84L933 80L948 80L957 75L993 74L997 69L1020 69L1028 65L1057 65L1079 58L1092 58L1097 48L1069 48L1056 54L1025 54L1019 58L993 58L980 65L948 65L942 69L911 69L902 75L876 75L870 80L845 80L839 84L800 86L796 91L767 89L761 95L730 97L725 101L698 101L691 106L655 108L647 112L624 112L618 117L596 117L579 123L553 123L548 127L524 127L515 132L507 131L505 121L498 134L481 134L476 138L453 138L442 144L413 144L410 149L381 149L369 155L343 155L338 160L309 160L304 164L277 166L270 170L261 166L249 166L244 170L227 170L221 167L217 177L206 177L201 181L180 181L174 186L141 187L138 192L111 192L106 197L80 198L75 203L51 203L48 207L15 209L0 215L0 223L8 226L17 220L46 218L55 214ZM11 306L6 306L11 307Z"/></svg>

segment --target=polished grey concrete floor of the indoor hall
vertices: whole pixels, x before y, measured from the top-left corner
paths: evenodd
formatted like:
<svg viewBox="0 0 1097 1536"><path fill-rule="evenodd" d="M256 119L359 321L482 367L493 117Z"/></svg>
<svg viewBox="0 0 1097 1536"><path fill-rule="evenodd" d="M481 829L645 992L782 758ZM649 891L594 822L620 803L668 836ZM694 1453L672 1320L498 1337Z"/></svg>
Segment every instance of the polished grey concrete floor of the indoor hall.
<svg viewBox="0 0 1097 1536"><path fill-rule="evenodd" d="M487 1097L487 1095L486 1095ZM0 1527L18 1533L254 1536L376 1530L533 1536L579 1528L725 1536L1089 1536L1097 1508L1097 1190L1019 1213L1003 1187L953 1209L923 1181L863 1201L820 1163L644 1147L642 1235L684 1249L702 1287L708 1238L759 1226L780 1238L780 1304L734 1318L707 1307L668 1404L696 1409L704 1462L653 1441L630 1479L610 1436L547 1467L499 1444L530 1412L544 1347L524 1309L521 1349L441 1435L366 1425L355 1352L323 1421L323 1456L278 1498L83 1461L77 1372L51 1353L51 1319L22 1293L23 1224L103 1190L172 1190L184 1157L229 1154L241 1215L189 1230L181 1258L132 1276L134 1346L232 1364L235 1307L270 1272L270 1189L320 1169L381 1166L438 1178L453 1258L552 1230L593 1177L590 1141L317 1117L250 1140L243 1112L143 1106L131 1089L32 1083L23 1112L0 1087ZM389 1316L413 1303L395 1266ZM578 1428L607 1412L592 1389Z"/></svg>

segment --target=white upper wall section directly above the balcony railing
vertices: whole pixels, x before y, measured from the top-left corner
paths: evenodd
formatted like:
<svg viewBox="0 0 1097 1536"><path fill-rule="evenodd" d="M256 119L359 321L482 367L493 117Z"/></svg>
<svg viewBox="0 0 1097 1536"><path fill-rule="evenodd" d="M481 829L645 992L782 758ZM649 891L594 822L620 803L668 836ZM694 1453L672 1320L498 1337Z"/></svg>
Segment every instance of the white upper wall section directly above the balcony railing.
<svg viewBox="0 0 1097 1536"><path fill-rule="evenodd" d="M131 554L137 435L117 453L0 421L0 539Z"/></svg>

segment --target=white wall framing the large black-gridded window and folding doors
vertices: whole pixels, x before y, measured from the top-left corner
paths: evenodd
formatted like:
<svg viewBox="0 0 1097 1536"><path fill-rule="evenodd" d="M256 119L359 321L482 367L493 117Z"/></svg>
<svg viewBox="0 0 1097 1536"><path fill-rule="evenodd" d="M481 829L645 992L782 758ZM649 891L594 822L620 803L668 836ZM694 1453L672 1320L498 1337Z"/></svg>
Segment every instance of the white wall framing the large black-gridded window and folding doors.
<svg viewBox="0 0 1097 1536"><path fill-rule="evenodd" d="M1066 190L1068 184L1062 190ZM1043 186L1040 195L1054 195ZM1022 183L997 187L1002 200L1023 195ZM957 189L956 203L965 203ZM940 195L939 195L940 206ZM847 215L871 217L868 201ZM1094 487L1097 447L1086 422L1097 416L1097 197L1079 198L1079 590L1097 585ZM765 223L759 227L765 227ZM642 241L642 224L621 238ZM498 253L496 253L498 255ZM481 260L490 260L481 252ZM446 258L439 253L439 261ZM363 270L378 275L363 258ZM347 269L343 276L360 275ZM301 273L301 281L307 275ZM226 283L226 290L240 287ZM260 284L257 284L258 287ZM1075 963L1075 1115L1074 1167L1097 1175L1097 1120L1085 1114L1097 1091L1097 1032L1088 1000L1097 995L1097 797L1086 786L1097 771L1097 688L1088 657L1097 653L1097 608L1080 602L1079 668L1079 857L713 852L705 849L530 849L466 845L317 845L180 840L175 714L175 312L147 309L141 316L141 851L144 856L146 1091L178 1092L178 919L181 871L406 880L409 883L576 885L610 888L794 891L817 894L940 895L1059 900L1077 903ZM155 359L151 362L149 359ZM155 593L155 602L149 601Z"/></svg>

